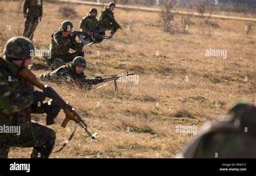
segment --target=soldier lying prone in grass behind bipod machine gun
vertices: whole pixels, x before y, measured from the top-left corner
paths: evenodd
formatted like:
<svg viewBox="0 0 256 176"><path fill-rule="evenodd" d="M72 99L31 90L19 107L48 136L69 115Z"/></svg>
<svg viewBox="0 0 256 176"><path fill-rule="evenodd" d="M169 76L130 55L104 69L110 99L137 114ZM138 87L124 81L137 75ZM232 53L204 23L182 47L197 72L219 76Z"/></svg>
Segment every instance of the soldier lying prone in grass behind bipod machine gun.
<svg viewBox="0 0 256 176"><path fill-rule="evenodd" d="M80 88L91 89L91 85L96 85L95 79L101 79L97 76L95 79L86 79L84 75L86 60L83 57L76 57L72 62L57 68L51 73L41 74L39 79L44 81L64 81L65 83L75 83Z"/></svg>

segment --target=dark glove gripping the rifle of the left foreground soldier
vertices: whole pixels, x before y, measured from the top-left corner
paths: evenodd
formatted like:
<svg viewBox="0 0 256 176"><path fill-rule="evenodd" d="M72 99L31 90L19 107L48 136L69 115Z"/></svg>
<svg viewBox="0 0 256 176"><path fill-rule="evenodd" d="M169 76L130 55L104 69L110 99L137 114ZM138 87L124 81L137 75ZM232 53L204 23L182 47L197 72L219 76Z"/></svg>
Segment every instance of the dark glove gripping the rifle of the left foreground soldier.
<svg viewBox="0 0 256 176"><path fill-rule="evenodd" d="M53 119L59 114L60 107L52 101L52 99L44 104L44 112L47 114L46 124L51 125L54 123Z"/></svg>

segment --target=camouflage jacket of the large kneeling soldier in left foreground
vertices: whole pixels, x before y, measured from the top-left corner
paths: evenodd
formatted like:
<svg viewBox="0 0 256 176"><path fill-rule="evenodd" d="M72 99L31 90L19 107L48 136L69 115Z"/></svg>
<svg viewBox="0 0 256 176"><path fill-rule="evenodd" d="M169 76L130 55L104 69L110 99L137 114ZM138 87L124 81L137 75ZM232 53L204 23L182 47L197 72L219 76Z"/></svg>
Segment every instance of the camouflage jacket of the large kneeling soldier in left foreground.
<svg viewBox="0 0 256 176"><path fill-rule="evenodd" d="M0 58L1 59L1 58ZM21 131L30 120L30 113L44 113L37 102L33 102L33 86L19 79L20 68L6 60L0 65L0 125L18 125Z"/></svg>

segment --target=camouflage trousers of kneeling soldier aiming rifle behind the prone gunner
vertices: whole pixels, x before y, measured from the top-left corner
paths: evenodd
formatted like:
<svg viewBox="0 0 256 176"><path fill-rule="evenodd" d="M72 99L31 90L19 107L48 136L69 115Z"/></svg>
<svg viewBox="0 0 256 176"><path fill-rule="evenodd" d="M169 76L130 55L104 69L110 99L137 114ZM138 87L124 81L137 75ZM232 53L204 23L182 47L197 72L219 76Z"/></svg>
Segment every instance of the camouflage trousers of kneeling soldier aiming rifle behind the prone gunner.
<svg viewBox="0 0 256 176"><path fill-rule="evenodd" d="M51 61L52 71L55 71L57 68L65 65L68 62L72 62L73 59L75 59L78 56L84 57L84 52L83 51L74 51L74 52L68 53L66 55L52 55L52 61Z"/></svg>

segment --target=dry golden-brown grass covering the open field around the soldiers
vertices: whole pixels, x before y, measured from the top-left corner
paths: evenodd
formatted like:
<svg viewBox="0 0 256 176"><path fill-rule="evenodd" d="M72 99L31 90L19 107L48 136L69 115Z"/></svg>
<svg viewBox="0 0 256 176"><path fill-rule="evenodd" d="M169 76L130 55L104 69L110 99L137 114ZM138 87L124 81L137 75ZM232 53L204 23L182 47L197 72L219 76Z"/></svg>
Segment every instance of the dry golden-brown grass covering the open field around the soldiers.
<svg viewBox="0 0 256 176"><path fill-rule="evenodd" d="M23 17L17 19L18 3L0 4L5 12L0 20L3 39L14 36L17 20L22 22ZM72 23L79 30L79 20L91 6L74 8L79 18ZM193 137L176 133L176 125L196 125L199 129L225 114L238 100L255 101L256 35L253 28L246 34L244 22L212 19L219 27L208 29L206 24L200 25L200 18L191 18L187 34L169 34L160 28L157 13L116 9L115 14L120 24L130 25L130 31L125 31L126 36L118 31L112 40L84 47L89 63L85 74L92 78L129 71L139 74L139 84L118 83L120 91L116 93L112 83L88 92L51 83L78 110L89 130L99 133L97 140L91 140L79 128L68 146L52 153L52 158L155 158L157 153L159 158L172 158ZM42 23L34 34L38 49L49 48L51 34L63 20L58 6L45 2ZM6 30L6 25L14 32ZM7 39L1 41L1 54ZM227 59L205 57L209 48L227 50ZM47 72L42 59L34 62L33 73ZM34 117L45 123L45 115ZM52 126L57 132L55 150L72 129L72 125L60 127L63 118L61 112L58 124ZM13 148L9 157L28 158L30 151Z"/></svg>

